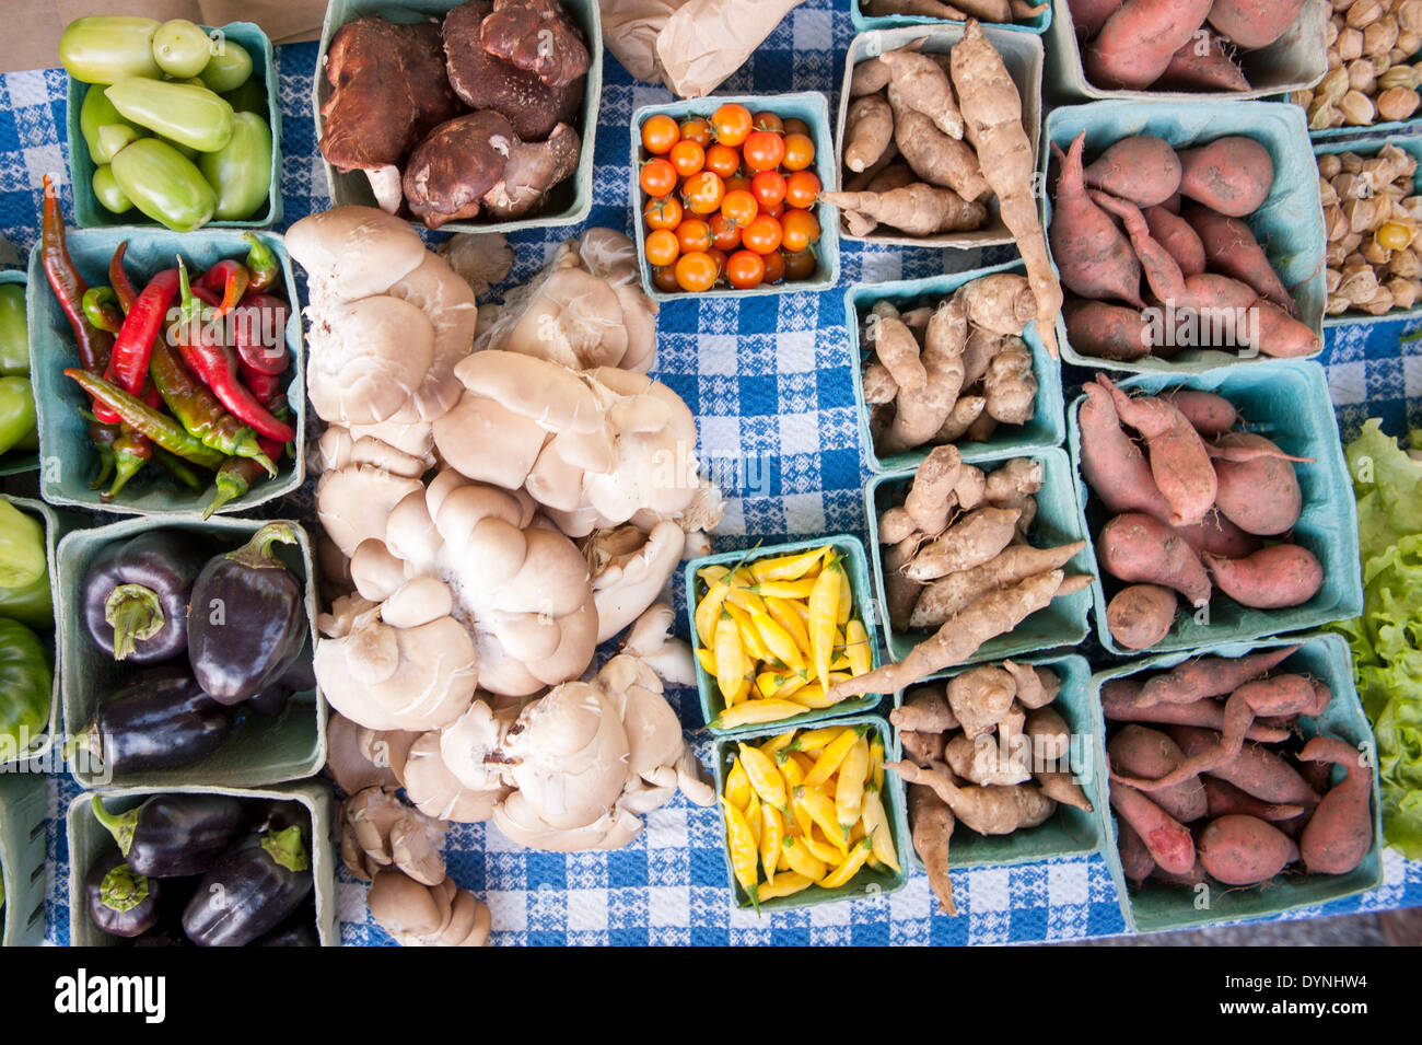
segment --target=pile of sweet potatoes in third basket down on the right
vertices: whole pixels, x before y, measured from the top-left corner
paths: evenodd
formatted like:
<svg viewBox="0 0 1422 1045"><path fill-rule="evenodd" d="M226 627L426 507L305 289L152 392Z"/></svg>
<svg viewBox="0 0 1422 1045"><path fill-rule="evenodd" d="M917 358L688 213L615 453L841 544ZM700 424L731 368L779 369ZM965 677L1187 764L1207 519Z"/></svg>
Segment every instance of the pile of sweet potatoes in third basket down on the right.
<svg viewBox="0 0 1422 1045"><path fill-rule="evenodd" d="M1176 594L1196 610L1216 591L1277 610L1318 593L1322 564L1290 537L1303 510L1301 458L1236 431L1233 404L1213 392L1128 395L1101 374L1082 391L1081 472L1111 516L1096 557L1122 584L1106 606L1118 644L1163 640Z"/></svg>

